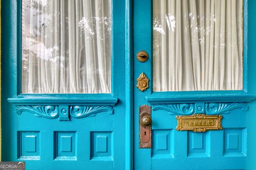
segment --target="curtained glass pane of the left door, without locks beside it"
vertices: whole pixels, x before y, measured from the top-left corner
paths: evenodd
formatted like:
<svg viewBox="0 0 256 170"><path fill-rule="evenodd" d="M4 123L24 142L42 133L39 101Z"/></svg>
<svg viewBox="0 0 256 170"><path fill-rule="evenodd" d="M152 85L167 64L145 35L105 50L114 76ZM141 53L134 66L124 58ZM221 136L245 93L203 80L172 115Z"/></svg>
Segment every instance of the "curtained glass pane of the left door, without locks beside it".
<svg viewBox="0 0 256 170"><path fill-rule="evenodd" d="M110 93L111 0L22 0L22 93Z"/></svg>

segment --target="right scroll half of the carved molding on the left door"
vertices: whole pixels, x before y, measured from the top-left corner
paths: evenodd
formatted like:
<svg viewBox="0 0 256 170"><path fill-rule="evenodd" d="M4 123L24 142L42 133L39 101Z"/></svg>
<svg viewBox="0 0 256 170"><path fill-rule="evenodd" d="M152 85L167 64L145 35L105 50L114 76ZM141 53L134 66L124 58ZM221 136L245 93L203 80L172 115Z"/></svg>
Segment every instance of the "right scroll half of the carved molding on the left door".
<svg viewBox="0 0 256 170"><path fill-rule="evenodd" d="M111 106L70 106L69 114L71 118L93 117L100 112L113 114Z"/></svg>

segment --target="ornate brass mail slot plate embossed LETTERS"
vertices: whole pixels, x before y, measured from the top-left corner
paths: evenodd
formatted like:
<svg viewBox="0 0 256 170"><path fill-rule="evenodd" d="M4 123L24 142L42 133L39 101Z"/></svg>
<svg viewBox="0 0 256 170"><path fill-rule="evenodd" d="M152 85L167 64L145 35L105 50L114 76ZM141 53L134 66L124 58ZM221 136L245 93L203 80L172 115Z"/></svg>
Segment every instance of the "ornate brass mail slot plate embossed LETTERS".
<svg viewBox="0 0 256 170"><path fill-rule="evenodd" d="M191 116L176 116L178 131L205 132L208 130L222 130L220 115L194 114Z"/></svg>

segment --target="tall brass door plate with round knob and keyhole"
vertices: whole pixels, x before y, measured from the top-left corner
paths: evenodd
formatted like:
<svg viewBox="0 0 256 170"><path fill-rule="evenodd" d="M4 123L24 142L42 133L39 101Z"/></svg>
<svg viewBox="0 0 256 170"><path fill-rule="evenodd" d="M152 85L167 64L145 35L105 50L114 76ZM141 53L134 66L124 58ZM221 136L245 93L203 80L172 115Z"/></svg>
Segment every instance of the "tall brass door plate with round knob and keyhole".
<svg viewBox="0 0 256 170"><path fill-rule="evenodd" d="M139 107L139 137L140 148L151 148L151 107Z"/></svg>

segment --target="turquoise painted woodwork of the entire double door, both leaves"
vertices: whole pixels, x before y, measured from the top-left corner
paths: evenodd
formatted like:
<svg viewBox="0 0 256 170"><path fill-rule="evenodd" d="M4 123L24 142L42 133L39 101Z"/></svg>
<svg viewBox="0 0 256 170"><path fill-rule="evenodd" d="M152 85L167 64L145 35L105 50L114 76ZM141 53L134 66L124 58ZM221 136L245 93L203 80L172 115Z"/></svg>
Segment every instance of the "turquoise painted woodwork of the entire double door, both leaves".
<svg viewBox="0 0 256 170"><path fill-rule="evenodd" d="M154 91L154 3L111 4L111 93L22 94L21 1L2 1L2 161L27 169L255 169L256 3L243 2L242 89L215 91ZM178 116L195 114L220 124L178 128Z"/></svg>

